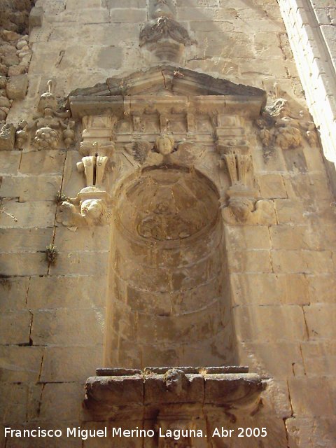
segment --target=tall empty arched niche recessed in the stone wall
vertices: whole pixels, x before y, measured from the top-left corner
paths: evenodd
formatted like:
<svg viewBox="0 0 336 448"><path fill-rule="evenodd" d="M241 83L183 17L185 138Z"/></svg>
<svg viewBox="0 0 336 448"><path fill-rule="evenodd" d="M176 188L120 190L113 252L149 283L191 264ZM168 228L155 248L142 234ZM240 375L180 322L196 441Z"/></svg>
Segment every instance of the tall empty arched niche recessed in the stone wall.
<svg viewBox="0 0 336 448"><path fill-rule="evenodd" d="M162 165L116 196L105 367L237 363L216 186Z"/></svg>

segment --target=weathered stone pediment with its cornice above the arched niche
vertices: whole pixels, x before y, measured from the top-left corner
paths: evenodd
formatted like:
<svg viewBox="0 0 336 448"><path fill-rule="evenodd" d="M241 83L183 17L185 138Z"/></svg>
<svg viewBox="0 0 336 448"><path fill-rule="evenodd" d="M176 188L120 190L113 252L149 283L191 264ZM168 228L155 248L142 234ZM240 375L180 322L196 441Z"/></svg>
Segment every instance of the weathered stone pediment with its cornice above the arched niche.
<svg viewBox="0 0 336 448"><path fill-rule="evenodd" d="M131 100L132 98L132 100ZM172 65L137 71L123 78L108 78L105 83L77 89L69 95L74 118L98 113L123 116L144 113L148 104L158 113L169 106L179 111L240 111L255 118L266 103L266 92L257 87L232 83L223 78Z"/></svg>

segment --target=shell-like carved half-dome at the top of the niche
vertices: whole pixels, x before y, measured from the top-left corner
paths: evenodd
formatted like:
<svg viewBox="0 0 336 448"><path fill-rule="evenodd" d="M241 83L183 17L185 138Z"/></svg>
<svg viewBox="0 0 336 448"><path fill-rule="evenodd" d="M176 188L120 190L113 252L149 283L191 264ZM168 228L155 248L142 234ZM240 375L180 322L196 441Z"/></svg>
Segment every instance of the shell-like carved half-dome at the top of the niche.
<svg viewBox="0 0 336 448"><path fill-rule="evenodd" d="M130 232L135 228L146 239L176 241L214 223L217 204L214 191L188 169L148 167L118 214Z"/></svg>

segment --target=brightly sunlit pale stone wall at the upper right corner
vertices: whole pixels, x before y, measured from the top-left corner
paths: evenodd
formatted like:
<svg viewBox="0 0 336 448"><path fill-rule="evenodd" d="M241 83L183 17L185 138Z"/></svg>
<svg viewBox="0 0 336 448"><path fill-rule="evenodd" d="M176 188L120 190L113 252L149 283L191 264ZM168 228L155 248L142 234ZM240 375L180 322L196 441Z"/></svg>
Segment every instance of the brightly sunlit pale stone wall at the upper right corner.
<svg viewBox="0 0 336 448"><path fill-rule="evenodd" d="M335 165L336 1L279 1L279 5L325 158ZM330 179L335 190L332 164Z"/></svg>

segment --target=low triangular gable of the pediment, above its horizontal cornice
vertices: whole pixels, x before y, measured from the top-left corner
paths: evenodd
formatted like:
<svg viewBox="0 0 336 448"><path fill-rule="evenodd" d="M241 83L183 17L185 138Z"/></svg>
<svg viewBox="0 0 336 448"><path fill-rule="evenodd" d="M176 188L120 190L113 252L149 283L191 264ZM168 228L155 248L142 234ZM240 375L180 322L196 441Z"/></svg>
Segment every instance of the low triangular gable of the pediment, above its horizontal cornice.
<svg viewBox="0 0 336 448"><path fill-rule="evenodd" d="M182 69L172 65L151 67L123 78L108 78L94 87L77 89L70 97L130 95L229 95L264 99L265 91L257 87L235 84L223 78Z"/></svg>

